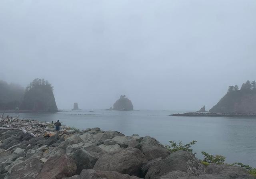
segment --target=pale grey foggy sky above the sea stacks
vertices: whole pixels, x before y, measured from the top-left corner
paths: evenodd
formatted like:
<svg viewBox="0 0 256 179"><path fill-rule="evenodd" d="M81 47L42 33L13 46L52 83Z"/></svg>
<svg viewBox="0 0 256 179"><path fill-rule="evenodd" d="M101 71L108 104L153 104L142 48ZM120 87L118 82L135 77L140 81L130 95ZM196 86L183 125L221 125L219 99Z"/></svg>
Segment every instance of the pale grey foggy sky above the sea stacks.
<svg viewBox="0 0 256 179"><path fill-rule="evenodd" d="M0 79L54 86L59 109L211 108L256 80L255 0L1 0Z"/></svg>

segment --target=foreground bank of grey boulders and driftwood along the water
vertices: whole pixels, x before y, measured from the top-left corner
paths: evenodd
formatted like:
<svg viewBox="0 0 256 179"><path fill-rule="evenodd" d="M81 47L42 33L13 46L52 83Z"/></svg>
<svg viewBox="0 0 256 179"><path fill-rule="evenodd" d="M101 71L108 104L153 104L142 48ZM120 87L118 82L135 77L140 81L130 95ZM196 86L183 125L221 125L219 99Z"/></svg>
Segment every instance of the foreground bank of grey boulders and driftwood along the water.
<svg viewBox="0 0 256 179"><path fill-rule="evenodd" d="M242 167L202 165L156 139L36 120L0 119L0 179L254 179Z"/></svg>

